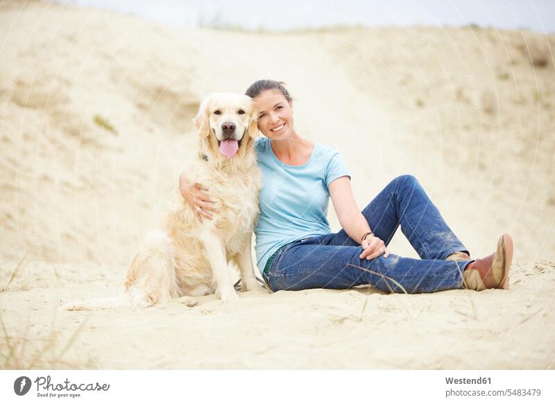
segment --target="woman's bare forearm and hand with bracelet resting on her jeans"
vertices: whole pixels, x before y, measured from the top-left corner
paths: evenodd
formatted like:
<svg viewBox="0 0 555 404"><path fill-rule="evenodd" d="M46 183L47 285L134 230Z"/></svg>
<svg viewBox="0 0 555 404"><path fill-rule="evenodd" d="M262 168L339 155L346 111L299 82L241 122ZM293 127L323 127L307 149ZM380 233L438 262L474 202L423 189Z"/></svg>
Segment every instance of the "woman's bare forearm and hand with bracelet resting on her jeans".
<svg viewBox="0 0 555 404"><path fill-rule="evenodd" d="M361 237L372 230L357 206L355 196L352 194L350 178L348 176L336 178L330 183L328 189L341 227L364 249L360 258L372 260L382 254L387 258L389 250L382 239L368 235L361 242Z"/></svg>

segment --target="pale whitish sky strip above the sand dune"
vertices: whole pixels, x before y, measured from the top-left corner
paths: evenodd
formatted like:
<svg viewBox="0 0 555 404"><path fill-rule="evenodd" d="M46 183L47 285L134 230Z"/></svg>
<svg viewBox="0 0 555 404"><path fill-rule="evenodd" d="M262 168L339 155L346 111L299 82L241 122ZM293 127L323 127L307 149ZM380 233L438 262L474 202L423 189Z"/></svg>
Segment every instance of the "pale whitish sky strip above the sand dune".
<svg viewBox="0 0 555 404"><path fill-rule="evenodd" d="M555 0L56 0L171 26L287 31L321 26L494 26L555 33Z"/></svg>

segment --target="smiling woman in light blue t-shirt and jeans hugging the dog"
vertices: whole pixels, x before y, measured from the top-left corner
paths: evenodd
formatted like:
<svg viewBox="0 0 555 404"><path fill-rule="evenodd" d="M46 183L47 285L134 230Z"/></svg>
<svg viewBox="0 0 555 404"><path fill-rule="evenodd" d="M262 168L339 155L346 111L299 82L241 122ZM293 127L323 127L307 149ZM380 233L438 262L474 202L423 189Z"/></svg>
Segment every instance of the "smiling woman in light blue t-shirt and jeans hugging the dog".
<svg viewBox="0 0 555 404"><path fill-rule="evenodd" d="M264 177L255 236L257 264L273 291L366 284L409 293L508 287L511 236L499 238L495 253L471 260L413 176L395 178L360 212L343 157L300 137L283 84L260 80L246 91L266 136L255 145ZM214 212L205 191L181 175L180 192L200 221ZM326 219L330 196L339 233L331 233ZM398 226L420 260L390 255L387 245Z"/></svg>

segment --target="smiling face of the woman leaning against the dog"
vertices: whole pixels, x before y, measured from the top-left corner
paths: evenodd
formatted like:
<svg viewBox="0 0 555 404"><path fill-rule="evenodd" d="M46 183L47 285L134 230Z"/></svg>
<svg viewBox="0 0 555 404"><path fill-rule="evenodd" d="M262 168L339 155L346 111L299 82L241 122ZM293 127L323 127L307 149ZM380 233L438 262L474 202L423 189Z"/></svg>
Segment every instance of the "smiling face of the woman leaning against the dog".
<svg viewBox="0 0 555 404"><path fill-rule="evenodd" d="M270 139L283 139L293 133L293 108L280 90L266 90L255 96L258 128Z"/></svg>

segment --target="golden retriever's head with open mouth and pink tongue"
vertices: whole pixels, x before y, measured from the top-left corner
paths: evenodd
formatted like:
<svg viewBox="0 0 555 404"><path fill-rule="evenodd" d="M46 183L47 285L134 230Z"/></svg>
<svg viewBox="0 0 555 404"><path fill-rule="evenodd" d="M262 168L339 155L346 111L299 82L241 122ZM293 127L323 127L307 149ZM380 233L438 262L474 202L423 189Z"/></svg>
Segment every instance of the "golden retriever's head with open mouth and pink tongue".
<svg viewBox="0 0 555 404"><path fill-rule="evenodd" d="M209 158L233 158L258 136L253 100L240 94L210 94L193 119L200 149Z"/></svg>

